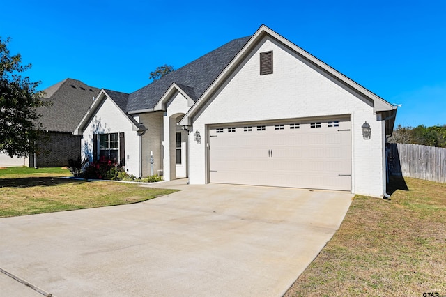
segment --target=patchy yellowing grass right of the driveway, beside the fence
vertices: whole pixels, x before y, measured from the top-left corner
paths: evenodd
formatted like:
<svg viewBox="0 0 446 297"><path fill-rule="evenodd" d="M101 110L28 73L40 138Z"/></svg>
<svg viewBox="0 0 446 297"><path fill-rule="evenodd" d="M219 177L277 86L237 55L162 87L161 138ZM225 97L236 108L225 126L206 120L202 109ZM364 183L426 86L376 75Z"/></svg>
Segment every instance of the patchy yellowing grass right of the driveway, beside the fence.
<svg viewBox="0 0 446 297"><path fill-rule="evenodd" d="M446 184L393 182L390 200L355 196L285 296L446 295Z"/></svg>

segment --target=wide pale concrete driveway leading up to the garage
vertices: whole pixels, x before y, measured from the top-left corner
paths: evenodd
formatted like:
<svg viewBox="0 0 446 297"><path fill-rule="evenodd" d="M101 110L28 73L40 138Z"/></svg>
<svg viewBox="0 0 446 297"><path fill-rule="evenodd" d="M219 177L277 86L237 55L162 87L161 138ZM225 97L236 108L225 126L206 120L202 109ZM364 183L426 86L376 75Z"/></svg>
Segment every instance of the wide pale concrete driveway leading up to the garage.
<svg viewBox="0 0 446 297"><path fill-rule="evenodd" d="M183 191L0 219L0 268L53 296L282 296L339 228L353 197L157 186ZM0 273L0 296L42 295Z"/></svg>

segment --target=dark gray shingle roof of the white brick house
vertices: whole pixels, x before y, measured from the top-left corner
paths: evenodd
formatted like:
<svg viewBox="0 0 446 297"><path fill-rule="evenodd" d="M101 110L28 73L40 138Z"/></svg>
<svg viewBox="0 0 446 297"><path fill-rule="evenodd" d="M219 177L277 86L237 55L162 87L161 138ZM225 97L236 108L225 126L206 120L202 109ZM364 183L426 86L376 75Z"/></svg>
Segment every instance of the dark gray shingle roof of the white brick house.
<svg viewBox="0 0 446 297"><path fill-rule="evenodd" d="M224 68L240 52L250 36L238 38L222 45L199 59L164 75L155 82L130 93L127 111L151 109L174 82L187 93L192 100L198 100L210 84L222 73Z"/></svg>

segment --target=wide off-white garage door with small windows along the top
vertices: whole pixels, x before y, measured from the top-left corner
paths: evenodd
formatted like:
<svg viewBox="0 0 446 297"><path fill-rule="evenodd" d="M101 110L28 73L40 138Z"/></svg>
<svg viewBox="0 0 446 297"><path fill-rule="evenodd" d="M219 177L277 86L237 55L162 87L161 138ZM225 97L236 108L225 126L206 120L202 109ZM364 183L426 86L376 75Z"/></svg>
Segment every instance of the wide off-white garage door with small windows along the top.
<svg viewBox="0 0 446 297"><path fill-rule="evenodd" d="M209 130L210 183L351 190L350 119Z"/></svg>

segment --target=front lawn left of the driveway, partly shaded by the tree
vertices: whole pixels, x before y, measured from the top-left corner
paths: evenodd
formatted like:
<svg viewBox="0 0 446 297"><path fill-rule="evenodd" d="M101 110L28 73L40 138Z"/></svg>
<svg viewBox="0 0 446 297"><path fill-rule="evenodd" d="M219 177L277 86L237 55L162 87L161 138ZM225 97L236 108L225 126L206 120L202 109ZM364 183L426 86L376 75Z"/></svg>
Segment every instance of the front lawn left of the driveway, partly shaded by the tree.
<svg viewBox="0 0 446 297"><path fill-rule="evenodd" d="M176 192L134 183L78 181L68 169L0 169L0 218L132 204Z"/></svg>

